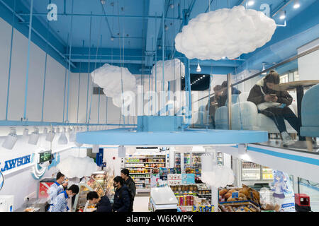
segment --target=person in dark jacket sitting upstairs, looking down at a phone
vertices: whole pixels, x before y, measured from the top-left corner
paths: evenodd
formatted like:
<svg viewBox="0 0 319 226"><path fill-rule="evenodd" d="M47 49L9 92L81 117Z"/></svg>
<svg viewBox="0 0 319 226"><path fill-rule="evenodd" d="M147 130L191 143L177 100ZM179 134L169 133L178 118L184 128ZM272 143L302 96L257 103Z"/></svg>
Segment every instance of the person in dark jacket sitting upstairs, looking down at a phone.
<svg viewBox="0 0 319 226"><path fill-rule="evenodd" d="M274 120L274 123L281 133L283 145L287 146L292 145L294 142L289 133L287 133L284 119L297 131L298 136L300 135L301 125L299 124L296 114L288 107L293 100L291 95L289 95L287 91L273 90L274 86L279 83L279 74L274 70L269 71L267 76L258 81L252 90L250 90L247 101L254 102L254 104L257 105L258 112ZM303 138L301 138L301 140L302 139Z"/></svg>

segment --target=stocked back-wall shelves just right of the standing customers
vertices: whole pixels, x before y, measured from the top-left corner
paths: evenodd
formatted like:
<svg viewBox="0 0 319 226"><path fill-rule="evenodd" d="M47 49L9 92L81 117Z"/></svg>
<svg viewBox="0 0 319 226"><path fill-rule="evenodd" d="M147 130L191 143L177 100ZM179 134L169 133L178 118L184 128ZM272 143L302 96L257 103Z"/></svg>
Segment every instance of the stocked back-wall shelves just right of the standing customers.
<svg viewBox="0 0 319 226"><path fill-rule="evenodd" d="M166 155L134 155L125 158L125 168L135 182L137 192L150 191L150 174L152 169L165 167Z"/></svg>

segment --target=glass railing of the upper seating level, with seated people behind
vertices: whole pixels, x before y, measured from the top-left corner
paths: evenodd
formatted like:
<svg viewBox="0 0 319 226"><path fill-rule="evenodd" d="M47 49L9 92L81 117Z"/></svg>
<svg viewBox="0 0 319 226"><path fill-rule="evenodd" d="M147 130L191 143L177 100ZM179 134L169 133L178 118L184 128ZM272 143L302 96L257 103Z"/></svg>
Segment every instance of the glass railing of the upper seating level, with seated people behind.
<svg viewBox="0 0 319 226"><path fill-rule="evenodd" d="M261 69L247 61L246 68L231 74L231 97L227 76L211 76L211 90L192 100L197 102L192 126L267 131L269 141L262 145L318 153L318 54L318 45L304 52L298 49L296 57L264 63Z"/></svg>

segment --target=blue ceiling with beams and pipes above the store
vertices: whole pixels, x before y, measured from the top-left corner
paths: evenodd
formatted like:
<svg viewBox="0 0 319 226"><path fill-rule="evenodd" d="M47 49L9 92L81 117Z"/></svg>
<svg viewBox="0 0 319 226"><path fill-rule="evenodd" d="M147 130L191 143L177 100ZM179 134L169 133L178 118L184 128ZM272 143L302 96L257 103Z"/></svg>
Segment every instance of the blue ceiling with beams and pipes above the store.
<svg viewBox="0 0 319 226"><path fill-rule="evenodd" d="M30 0L15 1L17 16L14 26L23 35L28 36ZM245 5L246 3L245 0L163 1L105 0L105 4L103 5L101 4L101 0L33 0L32 40L65 66L67 66L66 59L69 57L68 47L71 45L71 70L73 72L80 70L80 61L82 62L82 71L94 70L95 59L101 62L101 64L111 61L115 64L120 63L123 60L124 49L124 66L128 66L132 73L141 73L140 69L145 69L154 64L155 49L157 49L157 60L162 59L163 39L166 58L174 55L174 57L184 59L184 55L174 51L174 37L182 28L184 12L187 12L189 19L191 19L199 13L207 12L209 10L208 2L211 3L211 11L215 11L218 8L232 8L233 6ZM283 24L284 21L279 19L279 12L284 7L283 10L286 11L287 23L297 21L298 18L298 23L295 23L301 28L303 28L302 23L308 23L308 21L303 21L303 18L298 17L301 13L308 11L311 11L311 13L317 12L315 20L318 19L319 8L317 10L313 8L318 6L318 0L300 0L301 7L297 9L293 8L293 2L293 0L256 0L250 8L261 11L259 8L261 4L269 4L271 16L276 14L273 17L276 23ZM47 5L50 3L57 5L58 16L57 21L50 21L48 23ZM12 12L10 9L13 8L13 0L0 0L0 16L11 24ZM166 28L164 29L164 37L162 32L163 12L164 18L166 18L164 20L164 28ZM17 18L20 19L17 20ZM309 19L305 18L304 20ZM313 25L313 22L311 25ZM278 28L276 30L278 35L275 33L271 41L272 44L284 40L289 35L291 36L293 29L289 26L287 28ZM302 29L299 30L302 31ZM47 42L44 40L47 40ZM97 55L96 47L99 47ZM206 61L206 64L202 66L201 73L210 73L211 66L214 67L215 73L230 73L239 67L240 64L245 63L247 59L254 56L254 54L267 47L269 45L259 48L253 53L243 54L240 57L241 61ZM91 52L89 52L89 49L91 49ZM272 52L272 54L274 53ZM91 64L88 64L88 61ZM196 59L191 61L191 65L196 65L196 62ZM191 73L193 72L191 71Z"/></svg>

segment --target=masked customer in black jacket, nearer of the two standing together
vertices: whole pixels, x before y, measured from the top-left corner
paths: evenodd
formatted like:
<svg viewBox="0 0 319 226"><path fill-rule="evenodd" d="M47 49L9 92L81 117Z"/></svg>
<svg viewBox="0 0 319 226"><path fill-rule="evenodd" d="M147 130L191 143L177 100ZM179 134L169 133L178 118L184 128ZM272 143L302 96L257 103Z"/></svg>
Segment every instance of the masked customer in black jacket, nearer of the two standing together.
<svg viewBox="0 0 319 226"><path fill-rule="evenodd" d="M122 177L117 176L113 179L113 186L116 187L113 200L113 212L129 212L130 195L128 187L124 184Z"/></svg>

